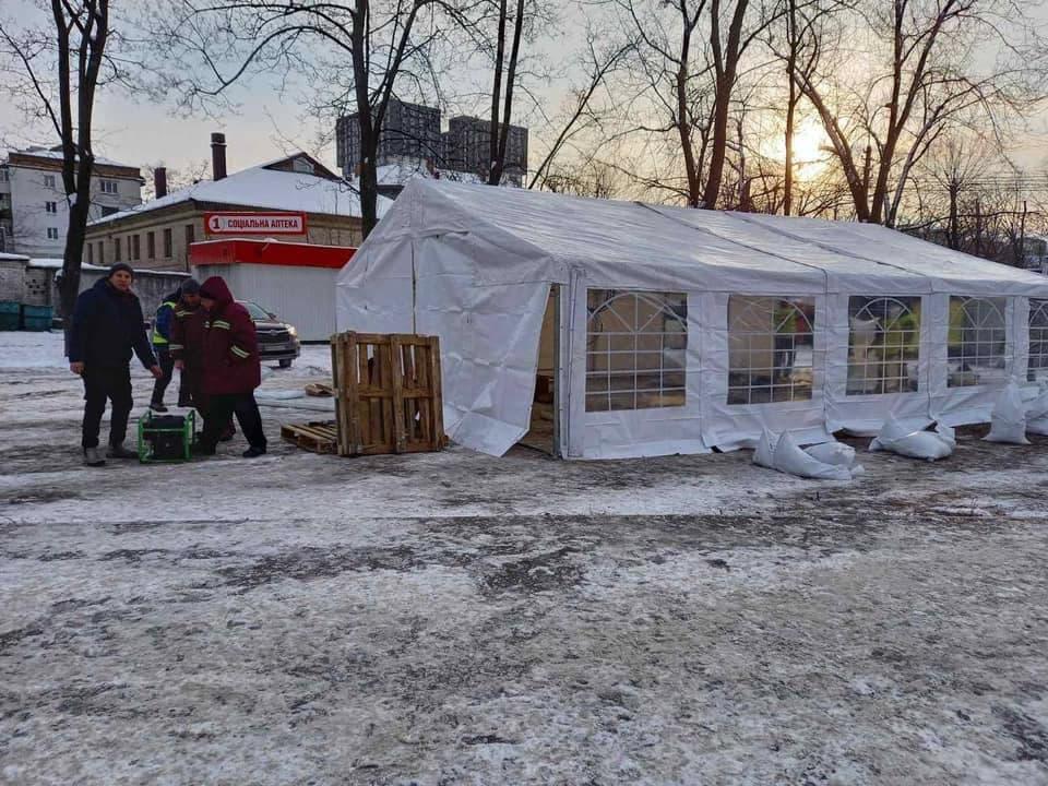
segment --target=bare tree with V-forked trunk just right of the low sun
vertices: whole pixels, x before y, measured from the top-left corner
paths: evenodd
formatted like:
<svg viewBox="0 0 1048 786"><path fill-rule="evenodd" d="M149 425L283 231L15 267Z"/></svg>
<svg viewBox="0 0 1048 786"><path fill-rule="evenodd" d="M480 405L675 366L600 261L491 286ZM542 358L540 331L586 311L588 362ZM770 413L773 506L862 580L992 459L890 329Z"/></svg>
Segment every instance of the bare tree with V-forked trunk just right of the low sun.
<svg viewBox="0 0 1048 786"><path fill-rule="evenodd" d="M861 9L856 36L882 45L864 60L885 62L883 71L874 64L857 79L837 59L797 79L845 172L856 216L893 224L909 174L939 135L978 108L1003 136L1010 118L1037 106L1044 73L1027 51L1035 25L1012 0L868 0ZM980 67L975 52L993 48L998 57Z"/></svg>

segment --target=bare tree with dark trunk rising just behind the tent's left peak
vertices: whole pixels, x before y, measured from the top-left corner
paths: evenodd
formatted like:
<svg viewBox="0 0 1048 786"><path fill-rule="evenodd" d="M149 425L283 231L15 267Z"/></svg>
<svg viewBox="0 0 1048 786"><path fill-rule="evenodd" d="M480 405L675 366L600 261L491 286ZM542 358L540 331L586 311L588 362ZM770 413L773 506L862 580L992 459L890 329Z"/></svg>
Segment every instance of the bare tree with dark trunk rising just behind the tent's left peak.
<svg viewBox="0 0 1048 786"><path fill-rule="evenodd" d="M174 91L187 110L228 106L234 85L266 75L330 85L332 106L352 106L367 237L378 223L377 158L397 82L425 79L445 33L441 14L460 12L452 0L160 0L146 24L158 88Z"/></svg>

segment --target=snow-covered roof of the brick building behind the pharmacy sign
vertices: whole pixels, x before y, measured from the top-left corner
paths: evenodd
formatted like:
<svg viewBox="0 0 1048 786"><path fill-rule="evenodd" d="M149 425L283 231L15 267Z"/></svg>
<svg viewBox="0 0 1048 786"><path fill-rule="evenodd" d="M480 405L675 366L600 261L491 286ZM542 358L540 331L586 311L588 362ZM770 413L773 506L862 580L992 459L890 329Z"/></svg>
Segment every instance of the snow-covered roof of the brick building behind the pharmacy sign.
<svg viewBox="0 0 1048 786"><path fill-rule="evenodd" d="M286 158L279 160L286 160ZM130 210L98 218L91 225L99 226L170 207L190 200L236 205L238 207L360 216L360 195L345 180L331 180L315 175L267 169L266 166L270 165L243 169L222 180L202 180L152 202L145 202ZM384 196L379 198L380 218L391 204L392 202Z"/></svg>

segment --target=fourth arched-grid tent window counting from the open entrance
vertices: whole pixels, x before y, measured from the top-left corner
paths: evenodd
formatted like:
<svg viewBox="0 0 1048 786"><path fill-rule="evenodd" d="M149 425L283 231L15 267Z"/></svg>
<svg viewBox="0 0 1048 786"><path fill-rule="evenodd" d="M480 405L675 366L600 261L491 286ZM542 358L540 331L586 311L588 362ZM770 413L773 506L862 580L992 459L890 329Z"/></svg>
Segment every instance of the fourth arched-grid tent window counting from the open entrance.
<svg viewBox="0 0 1048 786"><path fill-rule="evenodd" d="M1004 298L950 298L950 388L1007 381Z"/></svg>

